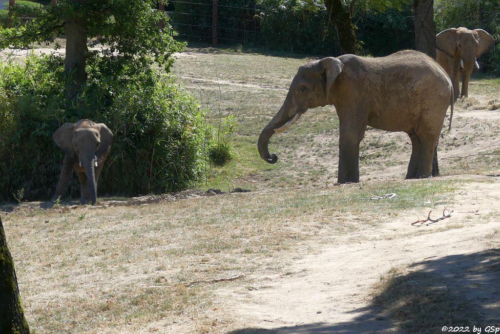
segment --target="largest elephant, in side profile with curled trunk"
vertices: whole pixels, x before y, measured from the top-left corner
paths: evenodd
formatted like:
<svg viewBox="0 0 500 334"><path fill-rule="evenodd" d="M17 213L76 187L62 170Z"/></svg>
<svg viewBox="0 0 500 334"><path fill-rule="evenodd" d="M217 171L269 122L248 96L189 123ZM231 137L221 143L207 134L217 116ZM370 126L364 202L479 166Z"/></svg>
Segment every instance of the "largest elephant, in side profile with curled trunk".
<svg viewBox="0 0 500 334"><path fill-rule="evenodd" d="M380 58L327 57L299 67L283 105L260 133L258 151L262 159L275 163L276 154L268 151L275 129L309 108L333 104L340 127L339 183L359 181L359 142L366 125L406 132L412 145L406 178L428 177L450 103L449 77L418 51Z"/></svg>

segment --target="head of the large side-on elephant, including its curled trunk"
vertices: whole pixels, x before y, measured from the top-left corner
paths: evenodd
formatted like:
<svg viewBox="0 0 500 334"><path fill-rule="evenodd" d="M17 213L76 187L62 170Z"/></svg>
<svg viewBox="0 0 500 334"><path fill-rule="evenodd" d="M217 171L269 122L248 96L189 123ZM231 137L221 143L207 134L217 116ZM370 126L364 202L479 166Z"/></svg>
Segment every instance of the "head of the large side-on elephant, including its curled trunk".
<svg viewBox="0 0 500 334"><path fill-rule="evenodd" d="M274 133L289 128L307 109L331 104L330 89L342 68L342 62L334 57L314 60L298 68L283 105L258 138L257 147L262 159L269 163L278 159L268 150L269 139Z"/></svg>

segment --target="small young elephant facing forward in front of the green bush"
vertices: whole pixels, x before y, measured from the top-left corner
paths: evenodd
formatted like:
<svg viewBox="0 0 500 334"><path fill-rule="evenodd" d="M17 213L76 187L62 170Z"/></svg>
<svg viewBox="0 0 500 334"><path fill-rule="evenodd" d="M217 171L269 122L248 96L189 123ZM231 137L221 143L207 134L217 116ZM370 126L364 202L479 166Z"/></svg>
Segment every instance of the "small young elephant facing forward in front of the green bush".
<svg viewBox="0 0 500 334"><path fill-rule="evenodd" d="M74 170L80 181L80 203L95 205L97 180L113 140L112 132L103 123L81 119L62 124L52 138L65 154L52 201L64 195Z"/></svg>

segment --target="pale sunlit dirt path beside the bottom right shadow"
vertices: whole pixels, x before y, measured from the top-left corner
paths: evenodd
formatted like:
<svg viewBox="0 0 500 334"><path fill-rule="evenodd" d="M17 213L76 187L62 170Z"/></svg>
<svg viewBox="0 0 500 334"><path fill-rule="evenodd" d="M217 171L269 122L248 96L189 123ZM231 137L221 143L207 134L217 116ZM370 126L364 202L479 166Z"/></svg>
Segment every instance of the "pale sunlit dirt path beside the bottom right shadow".
<svg viewBox="0 0 500 334"><path fill-rule="evenodd" d="M454 284L460 288L462 280L467 279L460 275L460 269L471 266L467 255L500 246L498 238L488 237L500 227L498 220L478 222L475 214L471 218L466 212L479 210L478 216L487 216L495 212L498 199L500 179L470 183L456 195L455 212L446 222L463 225L461 228L439 231L444 221L417 228L408 223L415 219L414 214L401 216L384 223L375 240L330 246L320 254L290 263L289 270L295 272L292 275L270 276L256 284L254 290L232 291L237 298L233 310L248 319L246 329L236 332L261 332L264 328L276 333L392 330L390 323L369 306L370 287L392 267L429 260L435 263L429 265L435 267L435 273L455 274ZM423 231L425 234L418 235ZM450 256L461 256L463 260L443 265ZM482 278L492 283L483 285L486 297L482 302L500 303L497 285L493 284L496 278Z"/></svg>

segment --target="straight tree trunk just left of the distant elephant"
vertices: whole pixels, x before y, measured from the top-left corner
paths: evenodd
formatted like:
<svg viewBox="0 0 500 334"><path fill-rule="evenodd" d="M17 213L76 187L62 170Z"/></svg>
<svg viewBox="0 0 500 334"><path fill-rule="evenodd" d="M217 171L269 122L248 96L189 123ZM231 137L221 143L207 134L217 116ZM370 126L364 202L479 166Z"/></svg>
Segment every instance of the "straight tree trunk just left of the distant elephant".
<svg viewBox="0 0 500 334"><path fill-rule="evenodd" d="M413 0L415 14L415 46L418 51L436 57L434 0Z"/></svg>

